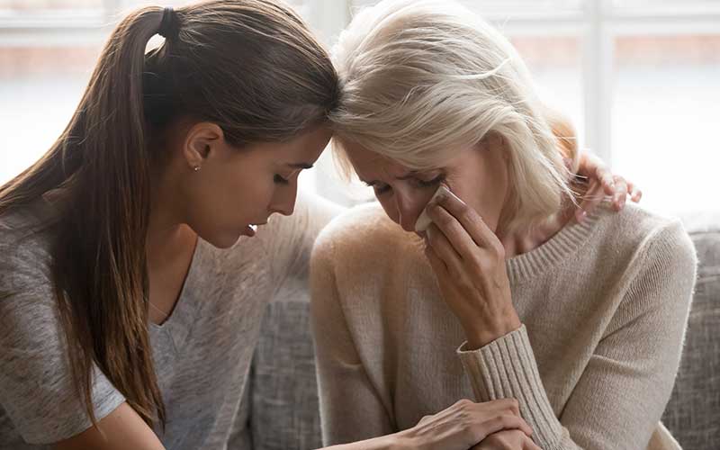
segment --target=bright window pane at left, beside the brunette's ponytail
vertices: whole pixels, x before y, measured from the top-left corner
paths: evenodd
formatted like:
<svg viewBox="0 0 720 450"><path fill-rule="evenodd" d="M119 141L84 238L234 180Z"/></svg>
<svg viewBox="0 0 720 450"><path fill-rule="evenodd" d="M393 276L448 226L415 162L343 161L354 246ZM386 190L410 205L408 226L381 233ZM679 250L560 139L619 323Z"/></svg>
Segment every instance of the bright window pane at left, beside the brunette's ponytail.
<svg viewBox="0 0 720 450"><path fill-rule="evenodd" d="M0 48L0 184L30 166L75 112L99 48Z"/></svg>

